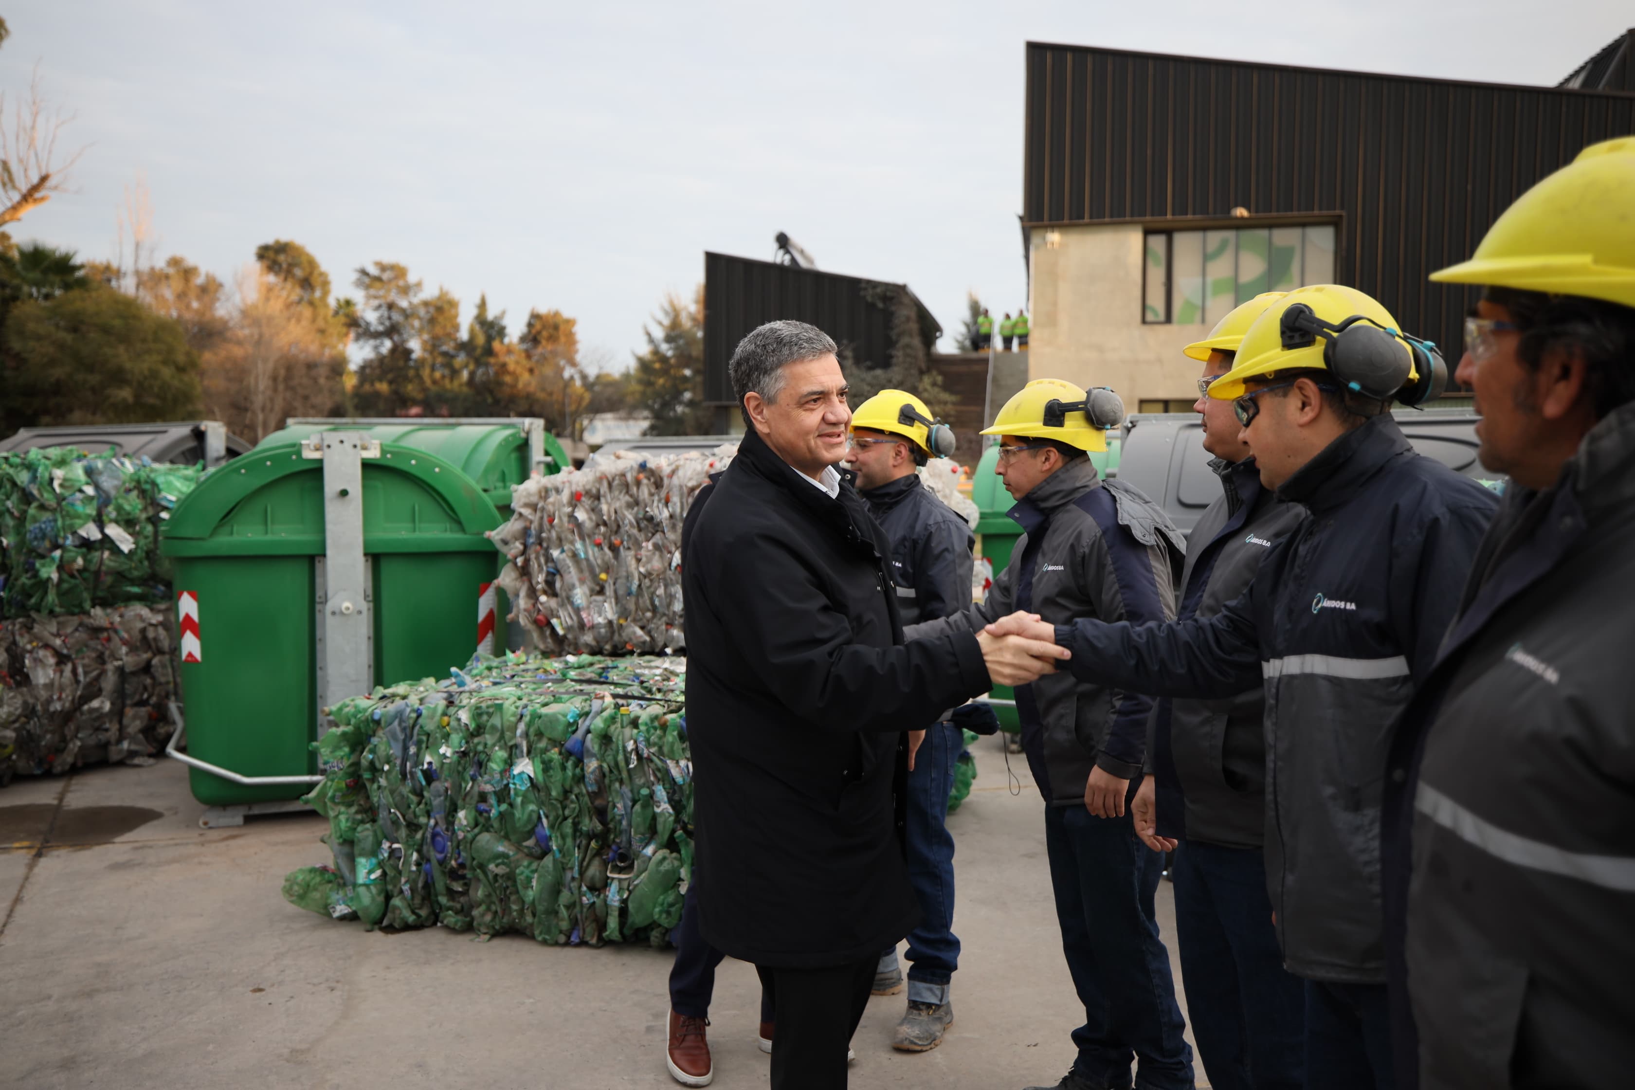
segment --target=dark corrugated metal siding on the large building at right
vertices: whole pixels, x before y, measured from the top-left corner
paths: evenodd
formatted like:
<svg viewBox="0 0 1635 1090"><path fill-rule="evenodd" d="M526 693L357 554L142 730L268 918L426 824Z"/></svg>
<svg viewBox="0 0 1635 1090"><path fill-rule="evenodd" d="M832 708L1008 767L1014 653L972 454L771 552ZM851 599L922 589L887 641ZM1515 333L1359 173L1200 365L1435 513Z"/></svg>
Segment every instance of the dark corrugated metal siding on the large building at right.
<svg viewBox="0 0 1635 1090"><path fill-rule="evenodd" d="M1635 95L1027 47L1028 226L1339 212L1336 275L1458 356L1475 289L1427 276ZM1136 320L1138 315L1131 315Z"/></svg>

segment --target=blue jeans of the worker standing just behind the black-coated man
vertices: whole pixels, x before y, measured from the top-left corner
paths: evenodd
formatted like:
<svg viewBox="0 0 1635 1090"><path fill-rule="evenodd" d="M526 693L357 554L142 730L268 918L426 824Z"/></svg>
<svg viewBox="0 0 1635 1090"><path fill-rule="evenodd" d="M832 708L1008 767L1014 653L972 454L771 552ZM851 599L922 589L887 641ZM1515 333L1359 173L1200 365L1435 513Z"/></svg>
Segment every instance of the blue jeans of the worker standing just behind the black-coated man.
<svg viewBox="0 0 1635 1090"><path fill-rule="evenodd" d="M909 931L909 1002L947 1003L948 981L960 967L960 938L953 933L953 835L948 832L948 793L953 766L965 748L965 732L938 722L925 730L914 755L907 793L909 884L919 897L921 925ZM876 972L898 967L893 946Z"/></svg>

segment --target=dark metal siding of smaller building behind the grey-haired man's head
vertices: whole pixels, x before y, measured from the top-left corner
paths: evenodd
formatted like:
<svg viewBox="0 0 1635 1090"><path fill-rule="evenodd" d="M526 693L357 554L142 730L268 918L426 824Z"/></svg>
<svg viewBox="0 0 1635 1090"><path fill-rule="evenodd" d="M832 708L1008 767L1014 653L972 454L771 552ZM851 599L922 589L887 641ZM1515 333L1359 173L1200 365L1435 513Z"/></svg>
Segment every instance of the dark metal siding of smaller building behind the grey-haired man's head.
<svg viewBox="0 0 1635 1090"><path fill-rule="evenodd" d="M891 355L891 312L870 302L868 296L883 299L880 289L901 288L839 273L705 253L705 400L734 402L726 363L737 342L765 322L811 322L842 348L849 346L855 363L886 366ZM929 324L929 330L935 328L929 314L922 314L921 322Z"/></svg>

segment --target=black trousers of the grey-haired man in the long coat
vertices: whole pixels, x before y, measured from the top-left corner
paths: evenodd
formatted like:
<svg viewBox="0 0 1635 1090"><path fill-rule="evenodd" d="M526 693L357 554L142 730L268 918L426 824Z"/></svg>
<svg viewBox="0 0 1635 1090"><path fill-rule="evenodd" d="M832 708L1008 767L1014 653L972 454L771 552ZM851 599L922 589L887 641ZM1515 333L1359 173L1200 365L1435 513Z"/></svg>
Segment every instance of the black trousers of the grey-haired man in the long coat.
<svg viewBox="0 0 1635 1090"><path fill-rule="evenodd" d="M772 1090L845 1090L845 1054L868 1007L868 958L829 969L755 966L762 1002L778 1008L772 1033Z"/></svg>

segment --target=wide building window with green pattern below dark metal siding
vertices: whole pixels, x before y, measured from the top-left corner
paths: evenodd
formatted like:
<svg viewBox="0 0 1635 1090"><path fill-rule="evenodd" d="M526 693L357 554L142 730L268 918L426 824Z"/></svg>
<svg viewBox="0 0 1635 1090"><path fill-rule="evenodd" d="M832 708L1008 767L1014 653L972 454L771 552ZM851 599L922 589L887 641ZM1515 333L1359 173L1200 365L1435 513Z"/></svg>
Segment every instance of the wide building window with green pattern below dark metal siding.
<svg viewBox="0 0 1635 1090"><path fill-rule="evenodd" d="M1334 224L1149 230L1141 320L1215 325L1262 291L1334 283Z"/></svg>

